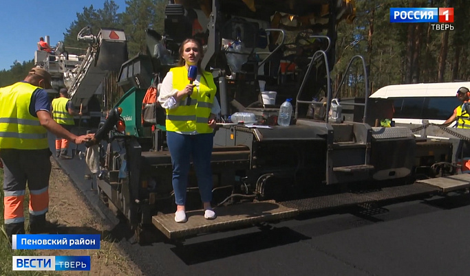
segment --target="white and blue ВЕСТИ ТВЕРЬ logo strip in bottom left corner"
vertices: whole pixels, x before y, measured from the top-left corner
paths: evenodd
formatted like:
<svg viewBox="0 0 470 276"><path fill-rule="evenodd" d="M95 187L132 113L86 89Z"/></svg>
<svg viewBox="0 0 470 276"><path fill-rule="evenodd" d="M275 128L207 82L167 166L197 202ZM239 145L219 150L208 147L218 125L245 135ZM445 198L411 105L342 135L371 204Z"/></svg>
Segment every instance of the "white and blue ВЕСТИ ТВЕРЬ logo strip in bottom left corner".
<svg viewBox="0 0 470 276"><path fill-rule="evenodd" d="M13 256L14 271L89 271L90 256Z"/></svg>

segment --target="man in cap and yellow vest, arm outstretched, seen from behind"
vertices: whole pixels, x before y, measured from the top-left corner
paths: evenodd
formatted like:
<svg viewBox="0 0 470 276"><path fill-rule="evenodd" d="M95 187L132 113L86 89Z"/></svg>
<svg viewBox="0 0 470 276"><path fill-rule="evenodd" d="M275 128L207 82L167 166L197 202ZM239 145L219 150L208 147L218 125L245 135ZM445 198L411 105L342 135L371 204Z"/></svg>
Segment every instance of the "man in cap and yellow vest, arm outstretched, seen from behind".
<svg viewBox="0 0 470 276"><path fill-rule="evenodd" d="M45 220L49 208L51 152L47 130L73 143L94 135L76 136L54 122L49 96L50 74L32 68L21 82L0 88L0 160L3 163L4 223L8 238L25 233L23 200L30 191L30 233L52 231Z"/></svg>

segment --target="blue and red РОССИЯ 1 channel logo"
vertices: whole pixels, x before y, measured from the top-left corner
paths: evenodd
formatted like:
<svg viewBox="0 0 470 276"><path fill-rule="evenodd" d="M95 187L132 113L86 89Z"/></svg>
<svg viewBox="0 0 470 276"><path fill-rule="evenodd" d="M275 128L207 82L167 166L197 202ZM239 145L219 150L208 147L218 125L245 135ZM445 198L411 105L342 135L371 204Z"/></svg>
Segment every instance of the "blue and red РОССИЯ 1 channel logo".
<svg viewBox="0 0 470 276"><path fill-rule="evenodd" d="M390 23L453 23L453 8L390 8Z"/></svg>

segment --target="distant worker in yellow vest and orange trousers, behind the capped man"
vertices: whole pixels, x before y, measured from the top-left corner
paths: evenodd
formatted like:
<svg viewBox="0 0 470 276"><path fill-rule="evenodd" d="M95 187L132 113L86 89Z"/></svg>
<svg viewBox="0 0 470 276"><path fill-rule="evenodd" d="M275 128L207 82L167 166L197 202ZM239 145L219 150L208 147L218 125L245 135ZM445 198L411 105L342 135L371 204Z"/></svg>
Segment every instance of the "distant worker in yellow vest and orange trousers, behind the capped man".
<svg viewBox="0 0 470 276"><path fill-rule="evenodd" d="M67 89L63 88L58 91L59 97L52 100L52 117L57 124L60 124L66 130L72 131L72 127L75 125L74 116L82 115L81 112L77 113L74 111L74 106L69 100ZM69 141L65 138L56 137L56 157L61 159L72 159L67 155L69 148Z"/></svg>

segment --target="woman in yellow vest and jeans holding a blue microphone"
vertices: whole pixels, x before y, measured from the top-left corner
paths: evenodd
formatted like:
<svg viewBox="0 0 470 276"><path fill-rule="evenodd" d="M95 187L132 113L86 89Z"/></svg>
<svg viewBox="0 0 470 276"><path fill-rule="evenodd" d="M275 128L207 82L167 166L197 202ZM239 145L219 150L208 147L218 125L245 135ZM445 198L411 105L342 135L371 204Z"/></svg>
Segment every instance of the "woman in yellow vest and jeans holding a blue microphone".
<svg viewBox="0 0 470 276"><path fill-rule="evenodd" d="M175 221L186 222L186 185L191 157L195 166L197 185L204 207L204 218L212 220L211 157L215 117L220 105L215 98L213 76L201 68L202 47L189 38L181 43L180 61L165 76L158 102L167 111L167 144L173 164L173 191L175 192ZM190 66L197 66L197 77L189 81Z"/></svg>

